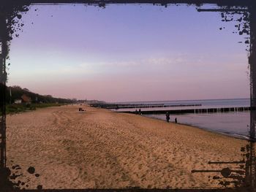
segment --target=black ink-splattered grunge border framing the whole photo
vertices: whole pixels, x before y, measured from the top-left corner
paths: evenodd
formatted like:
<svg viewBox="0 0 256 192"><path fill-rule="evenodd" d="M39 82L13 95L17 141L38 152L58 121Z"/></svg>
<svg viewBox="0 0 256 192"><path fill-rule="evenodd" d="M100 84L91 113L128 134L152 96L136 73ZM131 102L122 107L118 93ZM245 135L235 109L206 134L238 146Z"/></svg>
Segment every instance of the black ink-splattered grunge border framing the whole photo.
<svg viewBox="0 0 256 192"><path fill-rule="evenodd" d="M239 34L249 34L249 57L250 66L250 131L248 144L241 147L245 161L232 162L208 162L209 164L244 164L244 177L238 178L242 183L236 188L182 188L182 189L149 189L149 188L93 188L93 189L42 189L22 190L22 191L256 191L256 172L255 172L255 125L256 125L256 1L253 0L2 0L0 2L0 191L20 191L13 188L13 183L9 180L10 169L6 166L6 98L7 98L7 65L8 53L12 36L18 33L22 26L16 25L20 19L20 13L28 11L30 5L58 5L58 4L85 4L98 7L105 7L108 4L153 4L167 7L169 4L187 4L197 6L197 11L222 12L231 14L242 14L243 20L249 26L238 28ZM200 9L203 4L214 4L218 9ZM227 21L224 18L222 21ZM192 172L207 172L208 170L192 170ZM225 177L230 175L230 170L222 169L221 174Z"/></svg>

